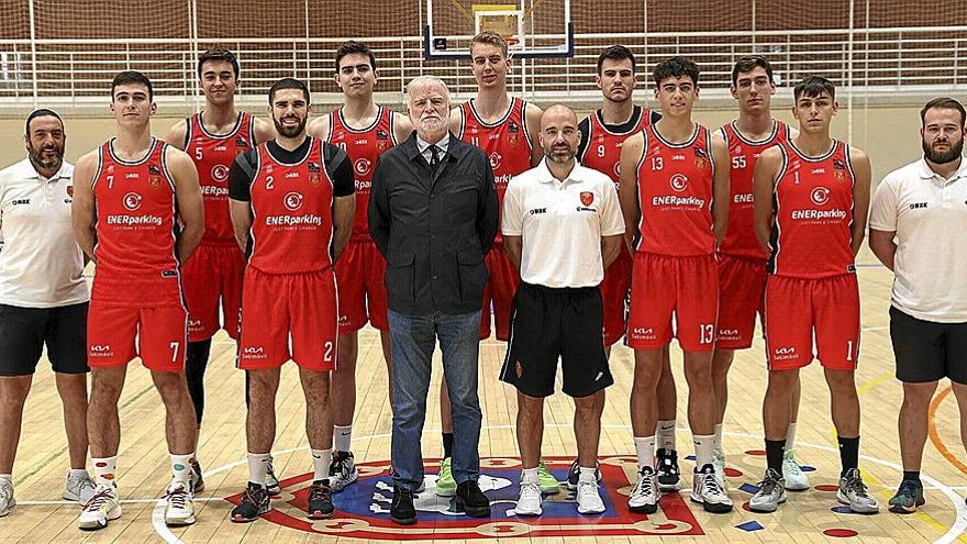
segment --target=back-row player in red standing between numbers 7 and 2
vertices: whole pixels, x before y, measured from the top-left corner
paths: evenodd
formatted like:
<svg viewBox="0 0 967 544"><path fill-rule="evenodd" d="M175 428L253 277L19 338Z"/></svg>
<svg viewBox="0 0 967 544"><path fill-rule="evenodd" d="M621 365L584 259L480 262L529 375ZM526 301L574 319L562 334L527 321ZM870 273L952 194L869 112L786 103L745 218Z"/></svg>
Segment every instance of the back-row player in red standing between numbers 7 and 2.
<svg viewBox="0 0 967 544"><path fill-rule="evenodd" d="M242 152L271 140L271 124L235 108L238 60L225 49L210 49L198 57L198 80L204 93L204 110L175 123L165 141L188 153L198 170L204 201L204 236L191 258L181 267L185 302L188 306L188 349L185 378L194 403L201 432L204 412L204 370L212 336L224 327L238 340L242 308L242 276L245 255L238 251L229 217L229 169ZM219 303L221 302L221 304ZM221 306L224 323L219 320ZM196 445L196 452L198 447ZM204 489L201 466L194 470L194 491Z"/></svg>

